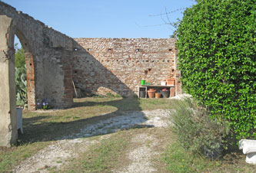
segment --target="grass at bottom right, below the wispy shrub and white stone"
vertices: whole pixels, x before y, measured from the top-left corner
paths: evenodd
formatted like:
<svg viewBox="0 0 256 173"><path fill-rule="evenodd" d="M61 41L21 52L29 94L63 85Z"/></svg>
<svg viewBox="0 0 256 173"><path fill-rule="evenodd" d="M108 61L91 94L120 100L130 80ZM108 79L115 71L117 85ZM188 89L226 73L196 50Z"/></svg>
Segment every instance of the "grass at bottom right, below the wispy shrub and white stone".
<svg viewBox="0 0 256 173"><path fill-rule="evenodd" d="M163 160L168 172L255 172L256 165L245 163L245 155L233 152L218 160L194 155L178 142L172 142Z"/></svg>

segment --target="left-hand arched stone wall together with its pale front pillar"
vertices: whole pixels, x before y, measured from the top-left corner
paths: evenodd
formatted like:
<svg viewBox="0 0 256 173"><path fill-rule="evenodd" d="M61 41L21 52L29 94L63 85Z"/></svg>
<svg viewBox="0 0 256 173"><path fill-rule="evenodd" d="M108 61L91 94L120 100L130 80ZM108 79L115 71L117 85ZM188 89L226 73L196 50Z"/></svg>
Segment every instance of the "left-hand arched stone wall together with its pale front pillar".
<svg viewBox="0 0 256 173"><path fill-rule="evenodd" d="M25 50L28 109L37 109L36 103L44 99L55 108L73 104L71 59L75 41L0 2L0 146L10 146L17 139L15 34Z"/></svg>

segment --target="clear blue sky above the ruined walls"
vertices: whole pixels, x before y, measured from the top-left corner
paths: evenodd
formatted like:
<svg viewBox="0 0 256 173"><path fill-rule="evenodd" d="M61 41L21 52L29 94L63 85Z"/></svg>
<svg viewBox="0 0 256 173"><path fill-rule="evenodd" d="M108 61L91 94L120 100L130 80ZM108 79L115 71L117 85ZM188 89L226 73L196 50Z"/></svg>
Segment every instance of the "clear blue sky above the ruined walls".
<svg viewBox="0 0 256 173"><path fill-rule="evenodd" d="M169 38L158 15L188 8L191 0L2 0L71 38ZM182 18L181 11L168 15ZM165 15L163 16L166 20Z"/></svg>

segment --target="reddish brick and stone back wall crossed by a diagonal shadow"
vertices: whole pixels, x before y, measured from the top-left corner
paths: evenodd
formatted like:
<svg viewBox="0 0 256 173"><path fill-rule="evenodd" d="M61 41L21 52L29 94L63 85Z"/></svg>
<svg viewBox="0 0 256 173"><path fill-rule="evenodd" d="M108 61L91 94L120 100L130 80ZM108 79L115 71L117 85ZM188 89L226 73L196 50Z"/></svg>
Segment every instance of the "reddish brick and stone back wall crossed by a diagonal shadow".
<svg viewBox="0 0 256 173"><path fill-rule="evenodd" d="M175 77L173 38L75 38L75 41L78 51L73 57L73 80L83 90L132 96L141 79L160 85L162 80Z"/></svg>

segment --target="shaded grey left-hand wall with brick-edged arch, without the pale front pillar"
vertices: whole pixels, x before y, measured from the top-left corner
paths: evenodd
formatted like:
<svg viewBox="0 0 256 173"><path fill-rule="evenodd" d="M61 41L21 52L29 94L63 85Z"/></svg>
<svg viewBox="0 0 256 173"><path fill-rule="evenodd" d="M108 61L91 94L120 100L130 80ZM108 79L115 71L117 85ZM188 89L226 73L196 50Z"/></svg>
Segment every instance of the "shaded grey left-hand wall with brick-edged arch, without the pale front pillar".
<svg viewBox="0 0 256 173"><path fill-rule="evenodd" d="M28 109L36 109L37 103L45 99L54 107L72 106L71 57L75 41L4 2L0 2L0 16L12 18L12 29L25 50Z"/></svg>

